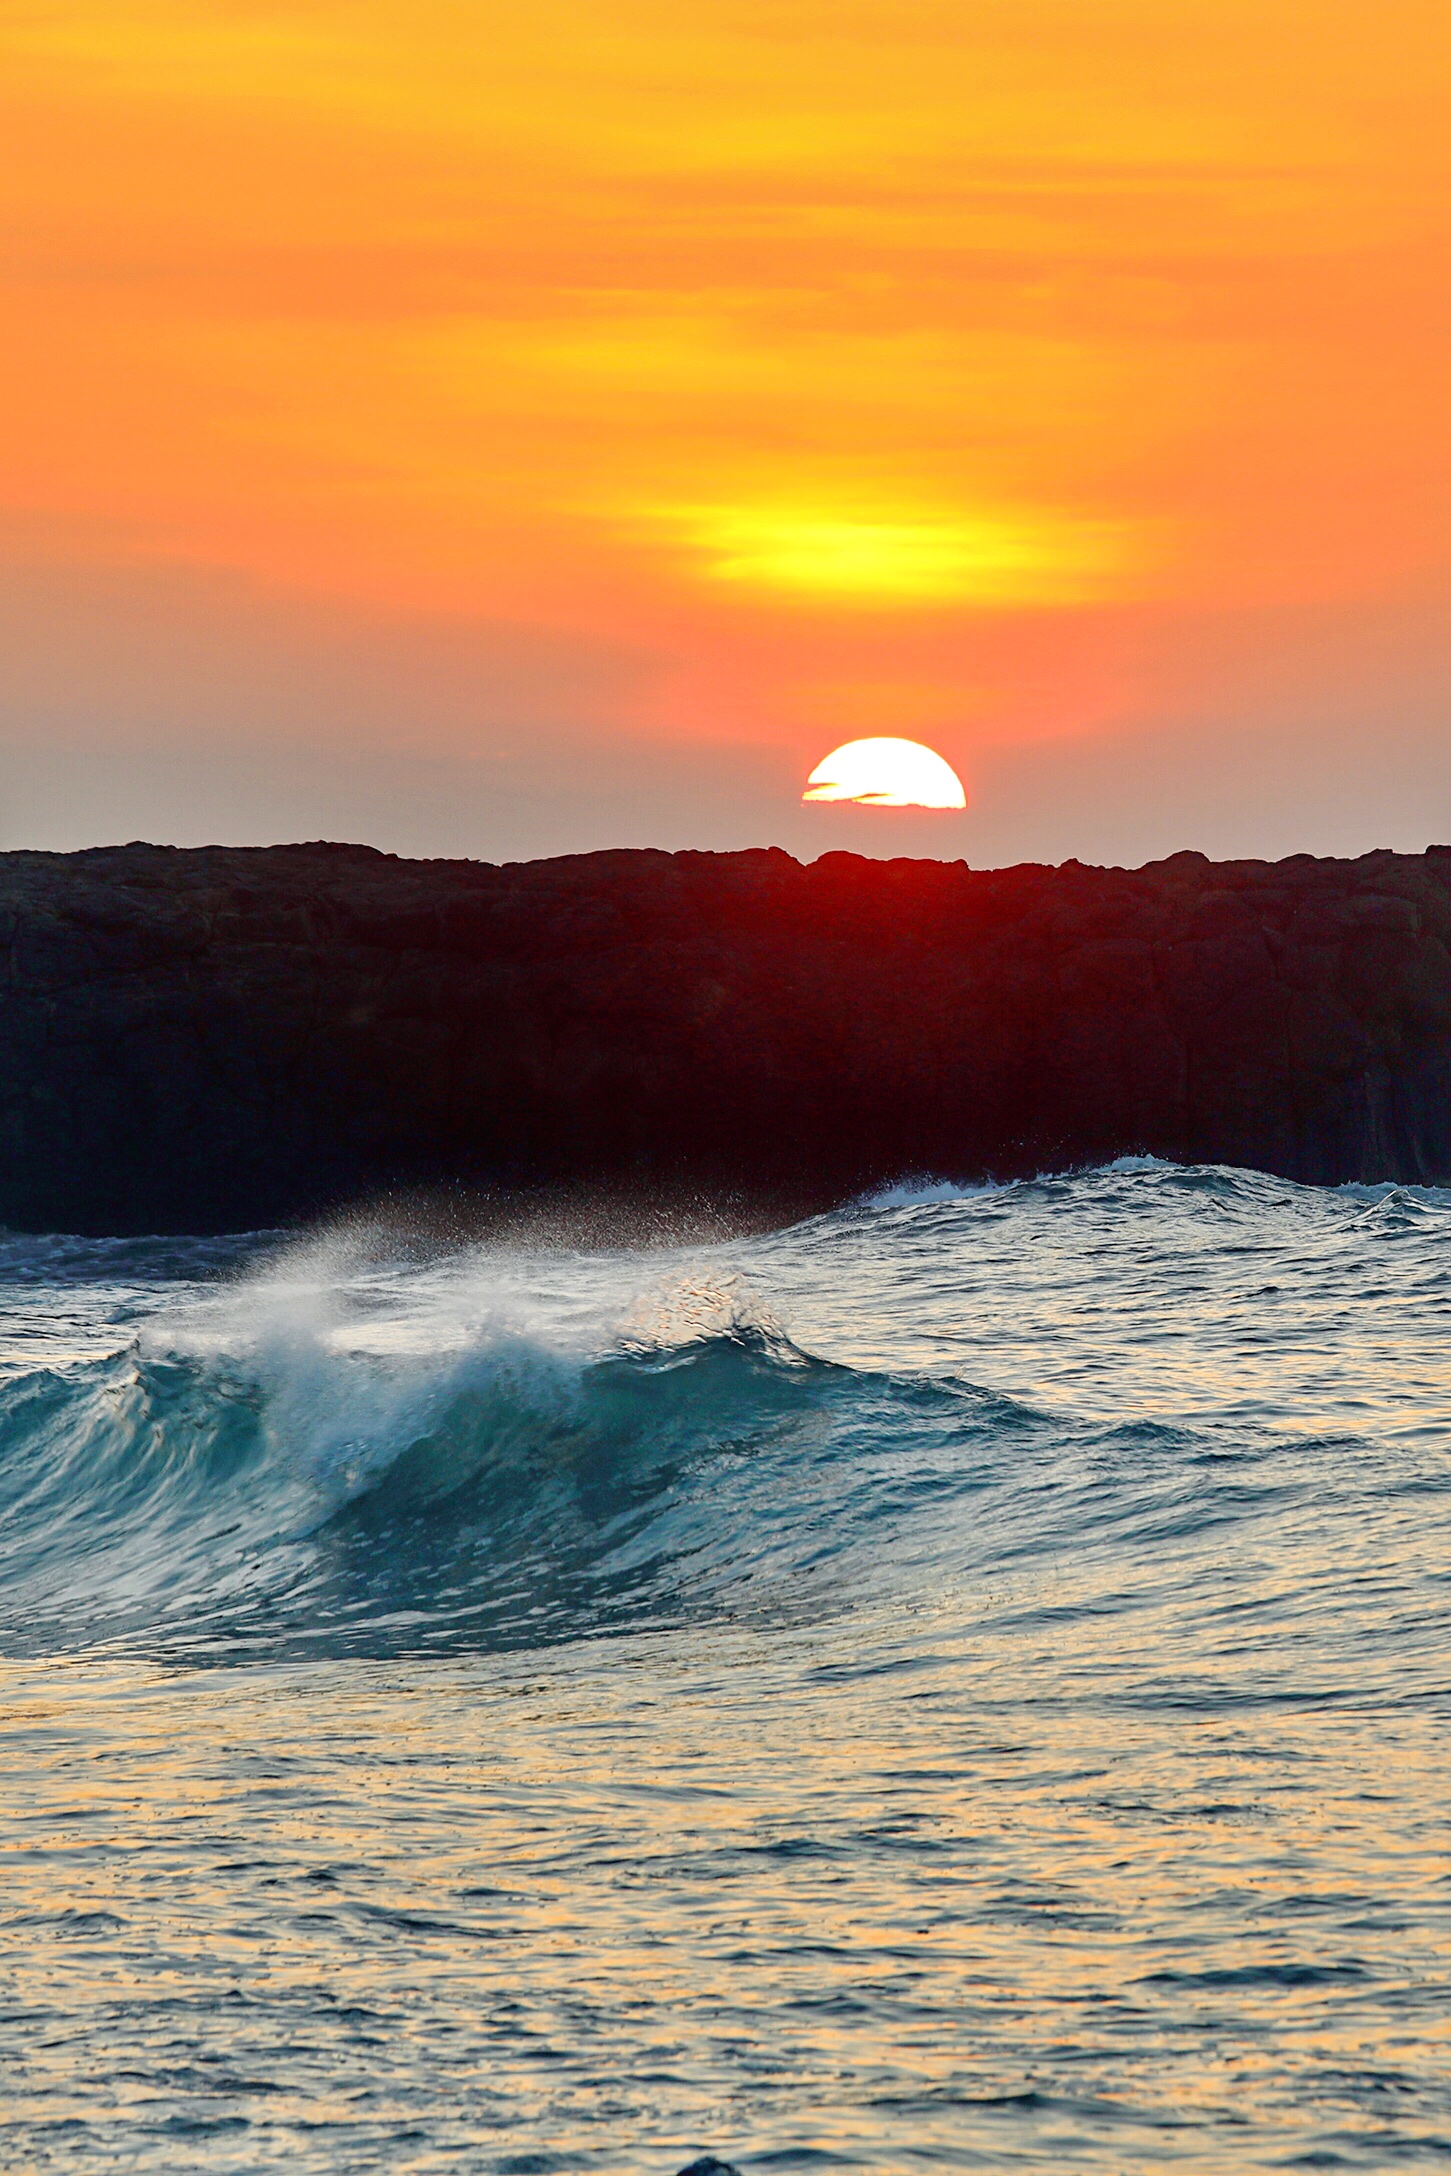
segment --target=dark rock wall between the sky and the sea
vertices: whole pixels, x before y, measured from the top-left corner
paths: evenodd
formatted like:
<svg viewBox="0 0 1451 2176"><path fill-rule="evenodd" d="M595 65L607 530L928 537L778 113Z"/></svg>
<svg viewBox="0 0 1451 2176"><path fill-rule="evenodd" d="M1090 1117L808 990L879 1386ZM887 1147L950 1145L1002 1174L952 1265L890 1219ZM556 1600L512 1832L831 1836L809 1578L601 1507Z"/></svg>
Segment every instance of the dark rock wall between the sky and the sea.
<svg viewBox="0 0 1451 2176"><path fill-rule="evenodd" d="M1451 1182L1451 849L0 855L0 1221L387 1188L824 1206L1127 1151Z"/></svg>

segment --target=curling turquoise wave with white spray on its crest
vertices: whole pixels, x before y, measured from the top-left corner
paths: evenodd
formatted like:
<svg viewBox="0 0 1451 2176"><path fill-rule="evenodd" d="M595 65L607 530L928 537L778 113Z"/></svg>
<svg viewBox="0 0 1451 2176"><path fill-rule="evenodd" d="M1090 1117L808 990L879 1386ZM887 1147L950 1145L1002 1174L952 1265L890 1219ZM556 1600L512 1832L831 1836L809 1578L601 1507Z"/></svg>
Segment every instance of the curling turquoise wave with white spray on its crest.
<svg viewBox="0 0 1451 2176"><path fill-rule="evenodd" d="M1001 1486L1035 1427L755 1330L590 1360L126 1351L0 1390L0 1623L15 1652L387 1654L798 1610Z"/></svg>

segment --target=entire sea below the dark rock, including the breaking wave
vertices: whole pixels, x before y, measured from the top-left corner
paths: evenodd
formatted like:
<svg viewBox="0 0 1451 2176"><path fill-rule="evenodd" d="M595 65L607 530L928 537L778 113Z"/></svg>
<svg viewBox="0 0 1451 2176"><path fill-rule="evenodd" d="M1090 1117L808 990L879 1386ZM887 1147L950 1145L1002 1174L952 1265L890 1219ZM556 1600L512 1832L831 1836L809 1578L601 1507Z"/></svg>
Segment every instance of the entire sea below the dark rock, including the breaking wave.
<svg viewBox="0 0 1451 2176"><path fill-rule="evenodd" d="M1451 2161L1451 1197L0 1247L0 2165Z"/></svg>

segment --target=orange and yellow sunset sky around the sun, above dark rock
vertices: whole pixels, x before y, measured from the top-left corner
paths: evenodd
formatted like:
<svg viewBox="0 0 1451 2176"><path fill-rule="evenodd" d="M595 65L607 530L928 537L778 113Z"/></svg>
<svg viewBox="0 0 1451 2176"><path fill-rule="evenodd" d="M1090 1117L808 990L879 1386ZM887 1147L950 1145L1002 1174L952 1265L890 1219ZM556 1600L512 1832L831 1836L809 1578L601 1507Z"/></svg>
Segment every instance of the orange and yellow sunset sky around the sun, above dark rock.
<svg viewBox="0 0 1451 2176"><path fill-rule="evenodd" d="M1449 96L1431 0L4 7L0 844L1451 840Z"/></svg>

